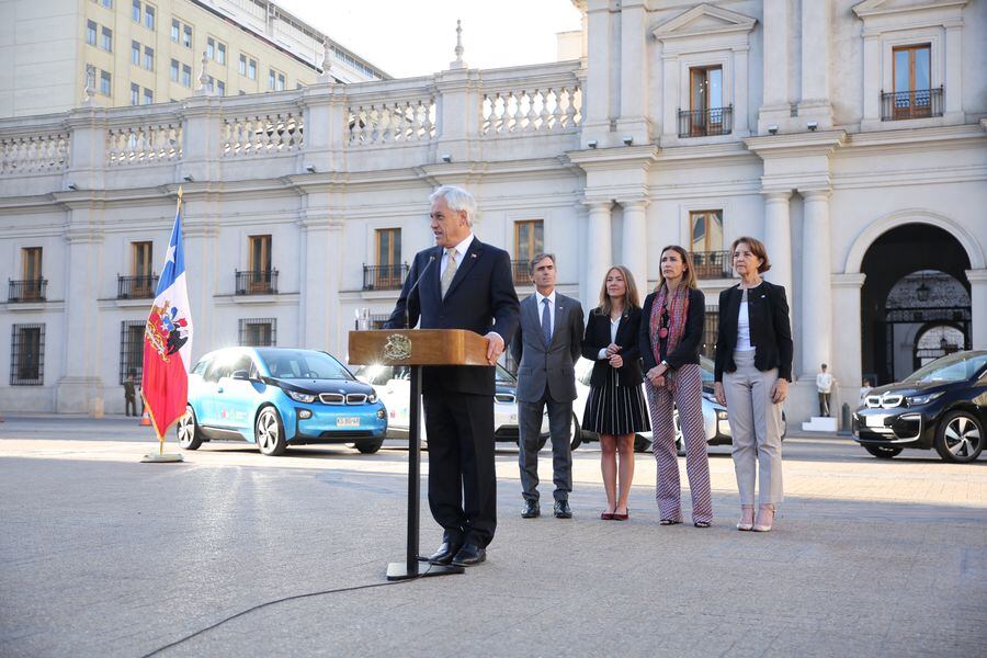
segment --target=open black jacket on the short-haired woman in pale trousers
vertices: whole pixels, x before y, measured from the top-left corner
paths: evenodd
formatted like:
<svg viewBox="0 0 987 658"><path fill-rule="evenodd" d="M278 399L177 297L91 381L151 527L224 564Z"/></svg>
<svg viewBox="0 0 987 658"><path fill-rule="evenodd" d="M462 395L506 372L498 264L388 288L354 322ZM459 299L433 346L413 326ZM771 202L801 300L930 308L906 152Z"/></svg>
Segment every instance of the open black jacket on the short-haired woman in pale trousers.
<svg viewBox="0 0 987 658"><path fill-rule="evenodd" d="M737 370L734 349L737 347L737 319L740 315L741 291L731 286L719 293L719 331L716 340L716 382L723 373ZM750 344L755 347L755 366L759 371L778 368L778 376L792 381L792 322L785 288L769 281L747 292L750 318Z"/></svg>

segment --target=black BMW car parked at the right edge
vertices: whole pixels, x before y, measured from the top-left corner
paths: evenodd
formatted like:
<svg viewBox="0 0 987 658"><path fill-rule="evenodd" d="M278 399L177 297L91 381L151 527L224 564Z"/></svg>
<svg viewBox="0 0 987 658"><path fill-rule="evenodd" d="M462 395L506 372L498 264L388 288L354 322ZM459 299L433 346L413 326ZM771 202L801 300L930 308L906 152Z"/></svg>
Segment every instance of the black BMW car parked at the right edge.
<svg viewBox="0 0 987 658"><path fill-rule="evenodd" d="M973 462L987 427L987 350L956 352L903 381L873 388L853 415L853 439L875 457L934 449L946 462Z"/></svg>

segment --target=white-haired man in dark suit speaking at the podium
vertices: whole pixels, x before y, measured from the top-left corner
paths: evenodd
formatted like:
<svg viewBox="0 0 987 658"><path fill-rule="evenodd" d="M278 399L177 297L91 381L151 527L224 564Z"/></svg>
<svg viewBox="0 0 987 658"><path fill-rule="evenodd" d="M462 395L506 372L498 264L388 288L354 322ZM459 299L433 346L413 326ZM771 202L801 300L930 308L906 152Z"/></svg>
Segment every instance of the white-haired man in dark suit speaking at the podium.
<svg viewBox="0 0 987 658"><path fill-rule="evenodd" d="M386 328L420 319L421 329L466 329L488 340L489 366L428 366L421 374L429 508L445 531L429 561L472 566L487 558L497 526L492 365L518 327L520 304L508 253L473 235L473 195L444 185L429 201L435 247L415 256Z"/></svg>

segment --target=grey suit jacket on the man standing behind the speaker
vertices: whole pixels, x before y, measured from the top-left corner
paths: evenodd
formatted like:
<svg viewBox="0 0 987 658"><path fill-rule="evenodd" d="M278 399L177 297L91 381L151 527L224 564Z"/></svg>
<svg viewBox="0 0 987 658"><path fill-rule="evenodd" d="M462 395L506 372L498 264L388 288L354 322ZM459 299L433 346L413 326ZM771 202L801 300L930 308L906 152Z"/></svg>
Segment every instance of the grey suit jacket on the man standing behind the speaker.
<svg viewBox="0 0 987 658"><path fill-rule="evenodd" d="M582 351L582 305L556 291L551 344L545 344L538 306L537 295L521 302L521 324L511 341L511 354L518 363L518 399L541 401L547 386L553 400L575 400L576 362Z"/></svg>

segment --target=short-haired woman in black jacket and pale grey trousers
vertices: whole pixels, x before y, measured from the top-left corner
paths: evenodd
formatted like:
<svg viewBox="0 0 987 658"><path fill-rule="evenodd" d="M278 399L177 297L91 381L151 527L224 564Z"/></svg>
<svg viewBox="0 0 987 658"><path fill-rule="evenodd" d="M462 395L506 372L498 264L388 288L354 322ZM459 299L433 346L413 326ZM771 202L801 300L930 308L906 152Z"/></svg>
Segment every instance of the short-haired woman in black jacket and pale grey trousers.
<svg viewBox="0 0 987 658"><path fill-rule="evenodd" d="M781 406L792 381L792 325L785 288L761 279L771 268L759 240L730 246L740 284L719 294L714 388L727 406L740 489L737 530L768 532L782 501ZM755 484L760 503L755 520Z"/></svg>

